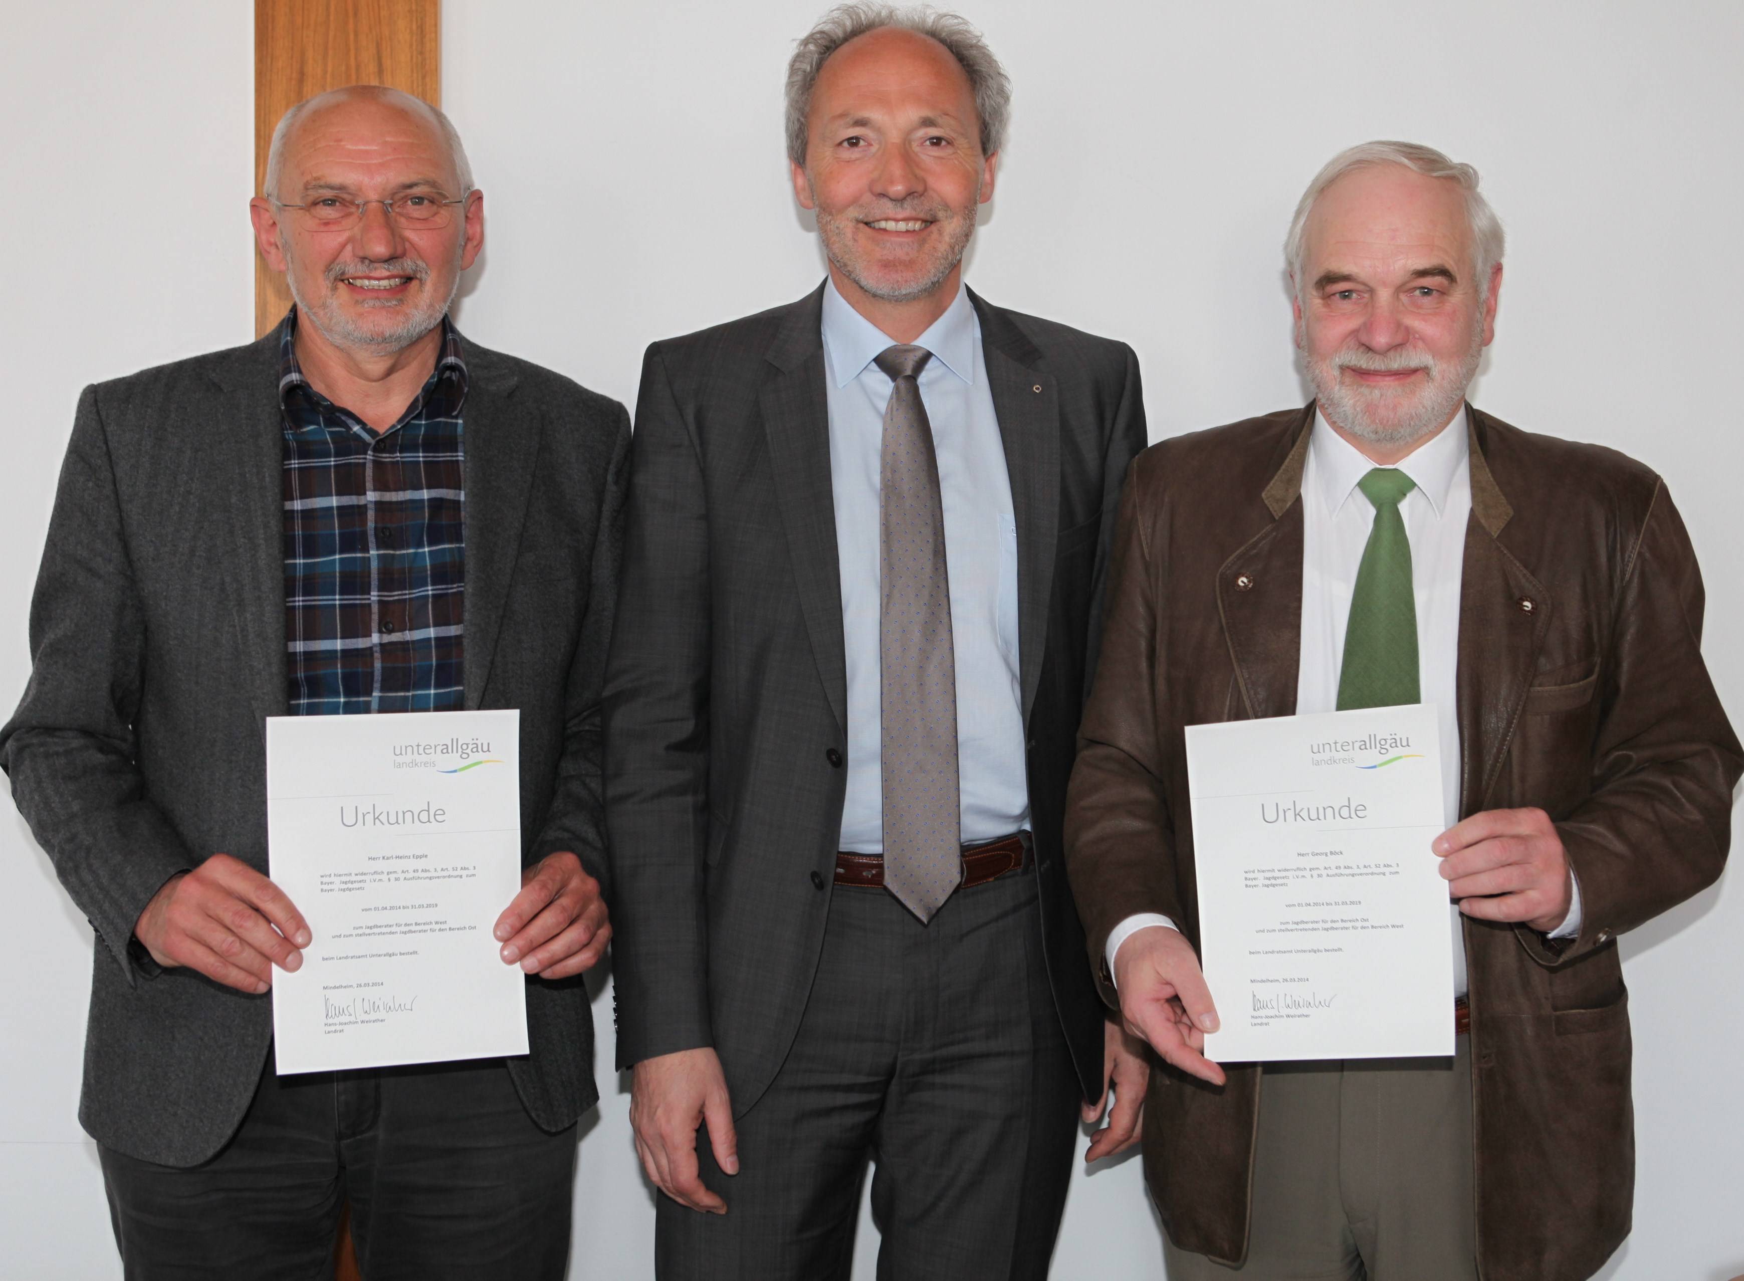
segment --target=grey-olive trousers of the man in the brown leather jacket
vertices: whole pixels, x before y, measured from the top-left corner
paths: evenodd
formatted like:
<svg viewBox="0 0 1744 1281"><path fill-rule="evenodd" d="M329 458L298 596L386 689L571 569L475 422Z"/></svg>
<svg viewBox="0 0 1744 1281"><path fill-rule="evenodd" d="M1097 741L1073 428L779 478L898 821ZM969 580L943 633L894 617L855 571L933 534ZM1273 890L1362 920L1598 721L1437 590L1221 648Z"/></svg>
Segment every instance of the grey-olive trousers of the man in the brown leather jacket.
<svg viewBox="0 0 1744 1281"><path fill-rule="evenodd" d="M1472 1038L1451 1059L1268 1065L1247 1262L1168 1281L1477 1281Z"/></svg>

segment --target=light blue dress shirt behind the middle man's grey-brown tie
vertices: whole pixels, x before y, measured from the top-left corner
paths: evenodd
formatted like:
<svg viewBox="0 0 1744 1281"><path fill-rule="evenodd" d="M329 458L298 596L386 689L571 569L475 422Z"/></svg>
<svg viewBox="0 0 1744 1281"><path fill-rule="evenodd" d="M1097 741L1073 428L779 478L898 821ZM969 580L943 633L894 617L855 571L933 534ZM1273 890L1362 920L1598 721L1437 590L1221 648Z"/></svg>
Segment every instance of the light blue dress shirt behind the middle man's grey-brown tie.
<svg viewBox="0 0 1744 1281"><path fill-rule="evenodd" d="M879 475L891 380L874 358L893 346L828 283L823 361L830 485L848 658L848 799L842 850L884 852L879 681ZM921 403L933 424L957 668L957 778L963 841L1029 827L1024 707L1017 661L1017 520L992 408L980 319L966 288L916 346Z"/></svg>

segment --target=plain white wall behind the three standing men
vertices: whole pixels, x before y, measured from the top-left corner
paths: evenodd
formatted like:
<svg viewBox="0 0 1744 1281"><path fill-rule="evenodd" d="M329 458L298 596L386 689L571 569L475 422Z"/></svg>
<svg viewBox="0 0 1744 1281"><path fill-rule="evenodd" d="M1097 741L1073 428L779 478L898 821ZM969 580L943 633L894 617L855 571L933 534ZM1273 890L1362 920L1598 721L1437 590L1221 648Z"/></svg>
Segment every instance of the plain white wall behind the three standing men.
<svg viewBox="0 0 1744 1281"><path fill-rule="evenodd" d="M490 227L466 330L630 401L649 340L811 288L821 258L787 188L780 82L821 5L446 0L445 98ZM1730 279L1744 9L964 7L1017 82L970 277L1005 305L1132 342L1153 436L1301 398L1278 241L1327 155L1397 136L1477 164L1510 253L1474 400L1669 478L1707 571L1709 663L1744 719L1744 445L1728 386L1744 349ZM148 21L63 0L7 28L0 714L28 675L24 602L77 389L246 339L251 281L248 7L180 0ZM35 211L17 215L16 192ZM153 204L159 192L178 195ZM0 969L14 976L0 1002L0 1269L119 1276L73 1119L89 930L16 817L0 819L0 846L12 923ZM1727 1281L1744 1272L1744 1024L1721 993L1744 976L1744 890L1709 890L1624 955L1639 1190L1636 1232L1601 1276ZM652 1276L652 1202L610 1072L609 1009L572 1276L631 1281ZM1137 1162L1080 1176L1055 1276L1160 1278L1156 1241ZM863 1232L863 1265L874 1251Z"/></svg>

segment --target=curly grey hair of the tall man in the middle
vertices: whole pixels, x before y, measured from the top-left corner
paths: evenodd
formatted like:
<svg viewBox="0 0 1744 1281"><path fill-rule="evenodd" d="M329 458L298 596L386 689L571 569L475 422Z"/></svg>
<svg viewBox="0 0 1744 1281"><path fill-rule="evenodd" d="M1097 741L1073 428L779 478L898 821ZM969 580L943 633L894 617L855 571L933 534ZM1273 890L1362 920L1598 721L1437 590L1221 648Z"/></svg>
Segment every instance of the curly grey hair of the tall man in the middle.
<svg viewBox="0 0 1744 1281"><path fill-rule="evenodd" d="M849 40L886 26L937 40L957 59L975 92L982 155L998 152L1005 145L1005 126L1012 115L1012 77L999 66L982 33L957 14L924 5L900 9L856 0L835 5L820 17L787 65L787 157L800 168L806 164L806 117L811 115L811 91L823 63Z"/></svg>

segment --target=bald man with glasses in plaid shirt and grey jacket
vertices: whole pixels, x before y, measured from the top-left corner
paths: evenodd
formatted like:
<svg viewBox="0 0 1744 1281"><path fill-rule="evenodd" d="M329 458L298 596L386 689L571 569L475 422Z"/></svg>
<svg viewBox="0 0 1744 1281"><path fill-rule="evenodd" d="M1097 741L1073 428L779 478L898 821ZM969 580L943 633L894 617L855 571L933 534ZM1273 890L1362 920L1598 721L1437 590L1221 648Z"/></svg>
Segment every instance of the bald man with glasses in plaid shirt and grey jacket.
<svg viewBox="0 0 1744 1281"><path fill-rule="evenodd" d="M415 98L293 108L253 218L296 307L78 403L0 764L98 935L80 1120L129 1278L321 1276L345 1201L370 1281L563 1274L628 417L446 321L481 201ZM310 930L265 876L262 719L509 707L532 1052L279 1077Z"/></svg>

